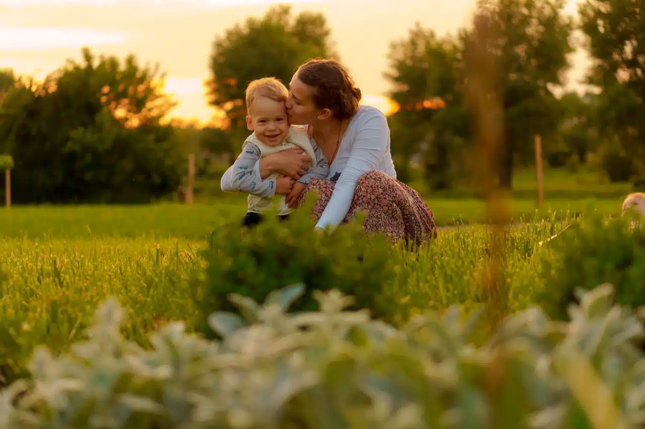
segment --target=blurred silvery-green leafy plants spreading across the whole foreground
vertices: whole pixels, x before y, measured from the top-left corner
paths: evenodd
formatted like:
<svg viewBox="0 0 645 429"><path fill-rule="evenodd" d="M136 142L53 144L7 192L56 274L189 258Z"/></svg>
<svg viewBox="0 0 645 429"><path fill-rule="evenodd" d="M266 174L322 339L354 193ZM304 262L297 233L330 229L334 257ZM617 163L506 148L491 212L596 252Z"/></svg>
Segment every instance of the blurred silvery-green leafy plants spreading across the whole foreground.
<svg viewBox="0 0 645 429"><path fill-rule="evenodd" d="M645 423L645 367L634 345L644 329L611 305L611 287L588 292L571 323L551 324L539 309L515 314L482 347L466 342L477 318L457 307L397 330L347 311L338 291L316 294L320 312L286 314L303 291L275 291L262 306L232 295L246 318L212 314L223 341L171 323L152 334L152 350L119 334L123 311L110 300L87 341L62 357L37 349L32 379L0 390L0 429Z"/></svg>

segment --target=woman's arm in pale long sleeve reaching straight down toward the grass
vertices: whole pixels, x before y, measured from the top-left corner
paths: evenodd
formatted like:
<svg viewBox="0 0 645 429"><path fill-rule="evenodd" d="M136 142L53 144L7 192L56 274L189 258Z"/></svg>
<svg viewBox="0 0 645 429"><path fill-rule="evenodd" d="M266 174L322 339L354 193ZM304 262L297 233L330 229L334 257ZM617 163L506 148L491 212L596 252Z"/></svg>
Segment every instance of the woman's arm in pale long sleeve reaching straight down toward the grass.
<svg viewBox="0 0 645 429"><path fill-rule="evenodd" d="M378 169L379 162L388 147L390 128L381 112L374 112L359 127L352 142L352 151L341 177L336 182L323 214L316 227L336 227L345 218L352 204L354 190L359 177L368 171Z"/></svg>

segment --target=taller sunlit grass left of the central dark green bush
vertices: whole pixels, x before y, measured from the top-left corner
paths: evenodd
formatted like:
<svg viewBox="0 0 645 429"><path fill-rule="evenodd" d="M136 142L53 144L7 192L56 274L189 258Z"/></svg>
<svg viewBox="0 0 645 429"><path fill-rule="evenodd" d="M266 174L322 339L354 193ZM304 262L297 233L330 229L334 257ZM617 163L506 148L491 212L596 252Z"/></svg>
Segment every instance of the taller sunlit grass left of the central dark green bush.
<svg viewBox="0 0 645 429"><path fill-rule="evenodd" d="M149 237L0 240L0 386L23 370L35 345L60 352L80 339L108 296L129 310L124 334L140 343L168 319L190 329L188 280L203 245Z"/></svg>

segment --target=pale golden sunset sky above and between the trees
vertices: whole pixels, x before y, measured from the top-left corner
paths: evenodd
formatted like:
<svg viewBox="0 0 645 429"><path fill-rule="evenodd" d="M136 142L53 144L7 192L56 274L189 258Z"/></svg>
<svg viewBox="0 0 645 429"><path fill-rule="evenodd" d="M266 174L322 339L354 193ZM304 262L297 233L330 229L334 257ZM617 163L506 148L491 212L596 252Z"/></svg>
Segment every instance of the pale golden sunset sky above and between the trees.
<svg viewBox="0 0 645 429"><path fill-rule="evenodd" d="M575 1L567 11L575 13ZM263 15L267 0L0 0L0 68L43 77L79 59L82 46L95 53L159 62L166 90L179 106L172 115L208 121L203 81L212 41L249 15ZM406 37L415 21L437 33L468 24L475 0L293 0L293 12L323 12L341 60L365 94L364 103L387 109L388 44ZM570 86L580 79L586 57L577 53Z"/></svg>

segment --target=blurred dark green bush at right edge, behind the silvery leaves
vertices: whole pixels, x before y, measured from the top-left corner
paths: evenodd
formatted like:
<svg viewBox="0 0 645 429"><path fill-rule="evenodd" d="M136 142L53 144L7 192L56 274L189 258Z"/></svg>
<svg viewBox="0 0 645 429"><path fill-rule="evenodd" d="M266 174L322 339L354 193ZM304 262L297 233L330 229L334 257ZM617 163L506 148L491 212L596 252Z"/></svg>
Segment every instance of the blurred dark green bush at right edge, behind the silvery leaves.
<svg viewBox="0 0 645 429"><path fill-rule="evenodd" d="M645 304L645 228L631 229L628 218L606 220L591 214L580 227L553 240L542 263L546 289L538 302L553 318L564 319L575 288L600 283L616 288L616 299L632 308Z"/></svg>

